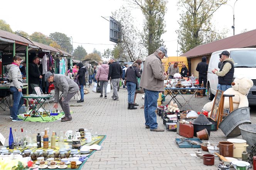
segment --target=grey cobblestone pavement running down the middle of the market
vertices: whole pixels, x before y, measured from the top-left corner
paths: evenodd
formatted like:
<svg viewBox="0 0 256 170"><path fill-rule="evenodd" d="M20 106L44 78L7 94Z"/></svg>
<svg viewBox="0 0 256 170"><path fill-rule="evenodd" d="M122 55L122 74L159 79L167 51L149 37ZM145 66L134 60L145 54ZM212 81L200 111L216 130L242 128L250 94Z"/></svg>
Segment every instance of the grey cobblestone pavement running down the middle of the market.
<svg viewBox="0 0 256 170"><path fill-rule="evenodd" d="M78 128L93 128L93 133L107 135L103 141L103 150L96 151L85 163L83 169L171 169L171 170L216 170L219 160L215 158L214 166L205 166L203 161L191 157L190 153L195 153L197 148L179 148L174 142L175 137L180 137L176 132L150 132L145 128L143 109L144 104L142 94L138 94L136 103L138 109L127 110L127 90L120 88L119 101L108 98L99 98L99 93L93 93L92 87L86 94L84 103L76 103L76 99L71 100L72 121L52 123L39 122L12 122L9 118L9 110L0 111L1 124L0 132L8 137L9 127L13 129L31 130L32 133L42 132L45 127L57 133L60 130L76 130ZM112 92L112 91L111 91ZM185 98L191 95L185 95ZM183 101L178 96L180 101ZM167 101L170 97L167 97ZM190 105L195 111L200 111L209 100L193 97ZM163 104L166 104L164 102ZM53 105L53 104L52 104ZM190 109L188 106L185 110ZM255 114L251 110L251 121L256 123ZM163 121L157 116L160 128L164 128ZM239 137L241 138L241 136ZM211 132L210 142L217 144L226 140L221 130ZM5 144L8 143L8 140ZM201 149L200 149L201 150ZM206 153L206 152L204 152Z"/></svg>

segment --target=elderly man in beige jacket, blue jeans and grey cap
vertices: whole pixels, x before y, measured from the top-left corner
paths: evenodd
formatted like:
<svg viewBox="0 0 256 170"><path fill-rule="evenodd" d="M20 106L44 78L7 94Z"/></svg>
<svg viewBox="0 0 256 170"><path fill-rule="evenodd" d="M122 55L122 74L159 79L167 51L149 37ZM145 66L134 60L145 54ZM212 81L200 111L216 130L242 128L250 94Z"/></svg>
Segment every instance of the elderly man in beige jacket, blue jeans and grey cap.
<svg viewBox="0 0 256 170"><path fill-rule="evenodd" d="M140 87L144 88L145 102L145 128L150 128L150 131L163 132L157 124L157 109L158 94L164 91L163 80L167 80L162 69L161 58L167 55L167 50L163 46L157 49L153 54L149 55L144 63L143 72L140 80Z"/></svg>

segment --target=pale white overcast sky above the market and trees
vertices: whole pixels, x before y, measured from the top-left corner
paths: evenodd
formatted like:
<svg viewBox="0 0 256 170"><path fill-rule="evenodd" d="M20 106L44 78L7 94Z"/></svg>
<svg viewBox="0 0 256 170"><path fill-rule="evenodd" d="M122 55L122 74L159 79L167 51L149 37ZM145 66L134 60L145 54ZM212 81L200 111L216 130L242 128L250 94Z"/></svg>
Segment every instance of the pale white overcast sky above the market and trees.
<svg viewBox="0 0 256 170"><path fill-rule="evenodd" d="M165 14L166 30L162 35L168 49L168 56L177 55L177 34L179 29L180 11L177 10L178 0L168 0ZM227 3L232 7L236 0ZM109 22L103 17L109 17L111 12L122 5L128 7L123 0L5 0L1 1L0 19L5 20L13 31L22 30L29 34L41 32L49 35L53 32L65 33L73 38L74 49L82 44L88 53L96 48L101 53L104 49L113 48L109 41ZM233 12L229 5L222 5L212 23L218 29L229 30L227 37L233 35ZM256 0L237 0L235 5L235 32L256 28ZM143 15L139 9L132 9L135 24L142 29ZM109 18L107 18L109 19ZM88 44L92 43L92 44Z"/></svg>

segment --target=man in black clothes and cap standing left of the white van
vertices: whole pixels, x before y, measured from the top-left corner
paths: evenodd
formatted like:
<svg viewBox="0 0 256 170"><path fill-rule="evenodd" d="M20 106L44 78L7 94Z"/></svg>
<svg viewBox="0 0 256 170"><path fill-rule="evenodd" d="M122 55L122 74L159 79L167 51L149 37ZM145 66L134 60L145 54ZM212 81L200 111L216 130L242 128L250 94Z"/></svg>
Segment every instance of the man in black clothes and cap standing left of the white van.
<svg viewBox="0 0 256 170"><path fill-rule="evenodd" d="M206 62L206 57L202 57L202 62L197 64L197 68L195 69L199 72L199 84L202 85L202 81L204 81L204 87L206 88L207 83L207 70L208 70L208 64ZM205 90L204 90L204 96Z"/></svg>

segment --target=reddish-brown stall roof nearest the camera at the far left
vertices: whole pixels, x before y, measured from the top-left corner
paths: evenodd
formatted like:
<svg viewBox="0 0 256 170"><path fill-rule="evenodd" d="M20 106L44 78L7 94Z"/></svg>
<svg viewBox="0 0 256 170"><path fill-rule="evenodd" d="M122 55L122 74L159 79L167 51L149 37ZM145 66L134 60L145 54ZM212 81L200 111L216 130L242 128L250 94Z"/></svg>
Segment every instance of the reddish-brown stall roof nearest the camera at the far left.
<svg viewBox="0 0 256 170"><path fill-rule="evenodd" d="M26 46L39 48L34 45L30 40L20 35L16 35L7 31L0 30L0 50L1 51L12 51L13 43L15 43L16 51L23 51L26 49Z"/></svg>

